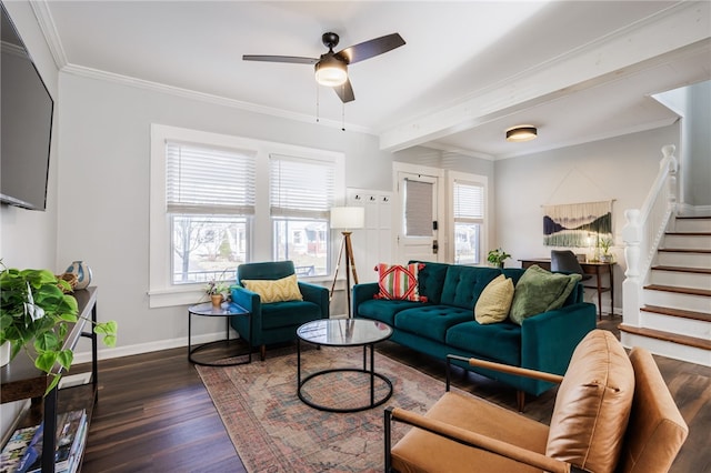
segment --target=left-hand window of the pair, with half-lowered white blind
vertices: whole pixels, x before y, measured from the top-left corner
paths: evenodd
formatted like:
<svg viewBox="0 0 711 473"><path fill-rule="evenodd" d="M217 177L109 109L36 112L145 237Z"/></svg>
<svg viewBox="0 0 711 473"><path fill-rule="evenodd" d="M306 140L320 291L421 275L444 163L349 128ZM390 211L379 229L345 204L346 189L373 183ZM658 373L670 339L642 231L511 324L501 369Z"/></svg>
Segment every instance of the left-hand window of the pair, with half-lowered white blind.
<svg viewBox="0 0 711 473"><path fill-rule="evenodd" d="M231 275L238 264L249 259L254 154L166 143L173 284L224 279L224 273Z"/></svg>

